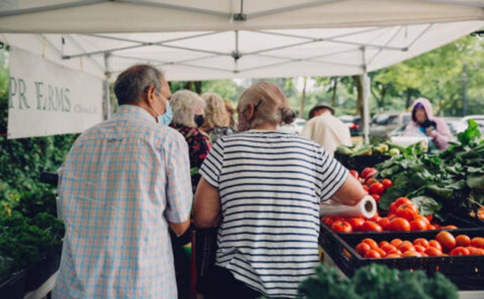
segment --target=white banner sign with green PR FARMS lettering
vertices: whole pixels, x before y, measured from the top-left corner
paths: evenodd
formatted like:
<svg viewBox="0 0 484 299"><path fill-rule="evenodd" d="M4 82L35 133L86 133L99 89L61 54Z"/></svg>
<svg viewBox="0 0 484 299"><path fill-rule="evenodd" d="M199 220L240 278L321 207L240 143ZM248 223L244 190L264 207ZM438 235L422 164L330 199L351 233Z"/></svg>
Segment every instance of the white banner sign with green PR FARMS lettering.
<svg viewBox="0 0 484 299"><path fill-rule="evenodd" d="M8 138L80 133L102 121L102 79L10 50Z"/></svg>

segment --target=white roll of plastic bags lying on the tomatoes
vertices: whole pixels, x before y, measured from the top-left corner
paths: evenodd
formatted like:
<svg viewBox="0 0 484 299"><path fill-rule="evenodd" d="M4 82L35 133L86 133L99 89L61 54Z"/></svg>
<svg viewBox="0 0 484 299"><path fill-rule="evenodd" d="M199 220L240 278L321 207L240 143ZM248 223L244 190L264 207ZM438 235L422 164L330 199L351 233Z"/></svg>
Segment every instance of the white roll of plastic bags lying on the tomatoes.
<svg viewBox="0 0 484 299"><path fill-rule="evenodd" d="M377 212L377 203L370 195L365 196L355 206L346 206L331 202L330 204L321 204L319 215L321 217L326 215L338 215L344 217L367 217L372 218Z"/></svg>

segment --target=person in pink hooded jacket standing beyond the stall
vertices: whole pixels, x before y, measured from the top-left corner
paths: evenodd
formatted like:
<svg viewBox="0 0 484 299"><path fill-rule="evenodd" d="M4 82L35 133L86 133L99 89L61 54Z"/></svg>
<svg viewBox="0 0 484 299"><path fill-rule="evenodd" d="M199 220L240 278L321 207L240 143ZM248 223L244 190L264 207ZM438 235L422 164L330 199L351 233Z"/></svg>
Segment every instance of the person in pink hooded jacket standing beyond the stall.
<svg viewBox="0 0 484 299"><path fill-rule="evenodd" d="M413 102L412 121L406 126L403 135L413 135L412 132L416 130L432 138L432 143L440 151L448 148L452 140L449 127L443 119L434 116L432 104L426 98L418 98Z"/></svg>

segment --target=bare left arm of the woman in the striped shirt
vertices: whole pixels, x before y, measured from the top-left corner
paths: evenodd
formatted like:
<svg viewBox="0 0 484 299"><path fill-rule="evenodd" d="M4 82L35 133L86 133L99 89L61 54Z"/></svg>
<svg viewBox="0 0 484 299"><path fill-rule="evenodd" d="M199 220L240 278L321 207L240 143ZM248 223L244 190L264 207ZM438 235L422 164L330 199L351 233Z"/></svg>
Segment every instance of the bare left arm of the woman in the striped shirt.
<svg viewBox="0 0 484 299"><path fill-rule="evenodd" d="M195 193L193 216L195 226L199 228L216 227L221 220L218 189L210 185L203 177L200 178Z"/></svg>

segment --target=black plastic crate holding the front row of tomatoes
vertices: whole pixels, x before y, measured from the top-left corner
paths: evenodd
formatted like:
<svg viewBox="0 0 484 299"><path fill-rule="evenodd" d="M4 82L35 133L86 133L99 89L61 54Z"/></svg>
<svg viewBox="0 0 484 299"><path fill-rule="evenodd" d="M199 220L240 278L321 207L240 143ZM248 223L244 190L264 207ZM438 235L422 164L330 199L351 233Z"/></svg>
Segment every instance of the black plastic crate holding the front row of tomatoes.
<svg viewBox="0 0 484 299"><path fill-rule="evenodd" d="M326 243L321 244L335 264L347 276L352 276L356 269L370 263L384 264L399 270L421 269L432 275L441 272L454 282L461 290L484 289L484 256L449 256L449 257L407 257L395 259L366 259L361 257L354 247L364 238L371 237L376 242L392 241L394 238L413 242L415 238L435 239L439 231L391 232L391 234L344 234L338 235L327 226L322 233L327 234ZM484 229L460 229L451 231L453 235L467 234L469 237L484 236ZM329 236L331 235L331 236ZM331 243L331 244L330 244ZM330 247L329 251L327 251Z"/></svg>

